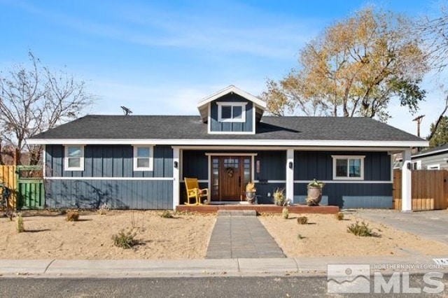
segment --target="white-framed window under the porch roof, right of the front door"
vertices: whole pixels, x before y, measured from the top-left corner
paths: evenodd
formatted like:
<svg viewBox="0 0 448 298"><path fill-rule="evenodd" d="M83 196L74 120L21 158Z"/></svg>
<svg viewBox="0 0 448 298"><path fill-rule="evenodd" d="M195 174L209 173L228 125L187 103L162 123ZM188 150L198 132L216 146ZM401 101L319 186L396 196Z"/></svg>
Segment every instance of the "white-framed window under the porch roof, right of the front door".
<svg viewBox="0 0 448 298"><path fill-rule="evenodd" d="M333 180L364 180L364 155L332 155Z"/></svg>

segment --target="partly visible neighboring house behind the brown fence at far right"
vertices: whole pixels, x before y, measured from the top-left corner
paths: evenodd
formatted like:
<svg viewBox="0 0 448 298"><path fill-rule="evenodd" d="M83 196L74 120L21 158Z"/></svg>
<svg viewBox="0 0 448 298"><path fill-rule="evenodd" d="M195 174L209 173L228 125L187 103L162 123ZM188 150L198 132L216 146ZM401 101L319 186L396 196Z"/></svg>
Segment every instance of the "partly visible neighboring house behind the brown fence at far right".
<svg viewBox="0 0 448 298"><path fill-rule="evenodd" d="M411 161L415 170L448 170L448 144L415 152Z"/></svg>

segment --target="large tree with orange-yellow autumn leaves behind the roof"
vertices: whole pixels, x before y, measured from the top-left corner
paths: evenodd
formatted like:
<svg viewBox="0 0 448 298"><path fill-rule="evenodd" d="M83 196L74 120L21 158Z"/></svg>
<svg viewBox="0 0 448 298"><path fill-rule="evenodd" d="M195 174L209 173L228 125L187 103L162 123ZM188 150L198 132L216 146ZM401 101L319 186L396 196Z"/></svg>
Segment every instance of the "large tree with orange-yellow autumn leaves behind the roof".
<svg viewBox="0 0 448 298"><path fill-rule="evenodd" d="M386 121L392 99L414 112L428 71L405 17L366 8L328 27L300 51L299 65L262 97L274 115L365 116Z"/></svg>

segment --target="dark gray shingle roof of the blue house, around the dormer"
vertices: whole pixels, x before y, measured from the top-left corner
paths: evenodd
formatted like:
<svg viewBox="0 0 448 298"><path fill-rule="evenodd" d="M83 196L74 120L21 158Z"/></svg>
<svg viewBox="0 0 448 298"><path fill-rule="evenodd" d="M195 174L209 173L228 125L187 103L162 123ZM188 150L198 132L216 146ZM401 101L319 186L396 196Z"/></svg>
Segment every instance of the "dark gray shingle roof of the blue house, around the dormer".
<svg viewBox="0 0 448 298"><path fill-rule="evenodd" d="M200 116L178 115L87 115L31 139L423 141L370 118L264 116L256 134L235 135L207 134Z"/></svg>

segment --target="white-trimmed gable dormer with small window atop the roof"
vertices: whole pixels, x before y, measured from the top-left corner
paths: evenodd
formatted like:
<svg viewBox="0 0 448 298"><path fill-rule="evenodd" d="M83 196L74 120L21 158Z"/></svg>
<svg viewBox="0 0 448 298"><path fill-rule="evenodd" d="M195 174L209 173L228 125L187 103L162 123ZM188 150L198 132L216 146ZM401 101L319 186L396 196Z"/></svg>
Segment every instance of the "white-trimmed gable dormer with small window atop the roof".
<svg viewBox="0 0 448 298"><path fill-rule="evenodd" d="M209 134L255 134L266 103L230 85L202 99L197 108Z"/></svg>

